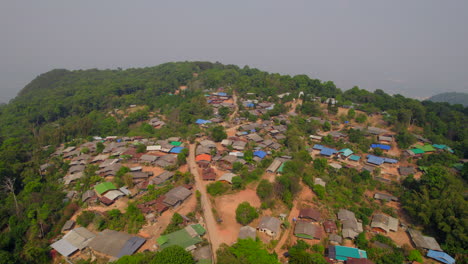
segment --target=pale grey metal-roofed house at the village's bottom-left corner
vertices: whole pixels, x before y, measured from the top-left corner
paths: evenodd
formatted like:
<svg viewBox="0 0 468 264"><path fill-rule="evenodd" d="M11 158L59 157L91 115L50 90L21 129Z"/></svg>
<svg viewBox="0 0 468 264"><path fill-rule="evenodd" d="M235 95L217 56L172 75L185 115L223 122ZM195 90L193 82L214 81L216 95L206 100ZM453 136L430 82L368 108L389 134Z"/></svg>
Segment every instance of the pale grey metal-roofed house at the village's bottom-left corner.
<svg viewBox="0 0 468 264"><path fill-rule="evenodd" d="M96 235L88 229L77 227L50 246L62 256L68 257L78 250L83 250L95 237Z"/></svg>

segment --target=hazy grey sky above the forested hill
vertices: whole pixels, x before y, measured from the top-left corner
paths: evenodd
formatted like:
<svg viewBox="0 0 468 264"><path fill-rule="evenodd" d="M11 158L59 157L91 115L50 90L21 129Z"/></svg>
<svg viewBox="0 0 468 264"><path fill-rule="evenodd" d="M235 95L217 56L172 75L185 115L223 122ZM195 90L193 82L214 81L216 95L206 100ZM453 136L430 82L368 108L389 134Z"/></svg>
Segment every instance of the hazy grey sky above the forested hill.
<svg viewBox="0 0 468 264"><path fill-rule="evenodd" d="M467 0L0 0L0 101L54 68L207 60L427 97L468 92Z"/></svg>

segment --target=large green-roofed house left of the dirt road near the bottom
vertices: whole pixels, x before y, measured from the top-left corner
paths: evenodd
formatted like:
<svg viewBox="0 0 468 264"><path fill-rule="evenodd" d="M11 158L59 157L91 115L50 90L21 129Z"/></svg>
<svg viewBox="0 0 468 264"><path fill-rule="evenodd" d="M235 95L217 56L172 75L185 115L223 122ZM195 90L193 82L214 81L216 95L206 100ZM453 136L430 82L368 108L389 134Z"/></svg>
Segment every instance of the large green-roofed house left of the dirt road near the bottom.
<svg viewBox="0 0 468 264"><path fill-rule="evenodd" d="M178 231L158 237L156 242L161 249L177 245L188 250L203 241L200 236L204 235L205 232L206 230L200 224L189 225Z"/></svg>

